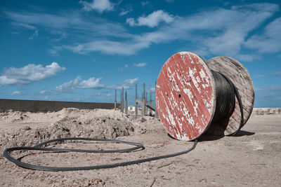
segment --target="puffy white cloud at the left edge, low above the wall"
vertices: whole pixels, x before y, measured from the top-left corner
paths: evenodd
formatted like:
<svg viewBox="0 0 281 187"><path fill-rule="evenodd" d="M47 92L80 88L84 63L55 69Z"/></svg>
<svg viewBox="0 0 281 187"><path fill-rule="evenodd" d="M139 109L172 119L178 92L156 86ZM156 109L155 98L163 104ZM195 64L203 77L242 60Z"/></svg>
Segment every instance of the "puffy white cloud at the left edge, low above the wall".
<svg viewBox="0 0 281 187"><path fill-rule="evenodd" d="M60 71L64 71L65 67L60 67L56 62L43 67L41 64L28 64L25 67L10 67L4 69L0 76L0 85L22 85L41 81L51 76L55 76Z"/></svg>

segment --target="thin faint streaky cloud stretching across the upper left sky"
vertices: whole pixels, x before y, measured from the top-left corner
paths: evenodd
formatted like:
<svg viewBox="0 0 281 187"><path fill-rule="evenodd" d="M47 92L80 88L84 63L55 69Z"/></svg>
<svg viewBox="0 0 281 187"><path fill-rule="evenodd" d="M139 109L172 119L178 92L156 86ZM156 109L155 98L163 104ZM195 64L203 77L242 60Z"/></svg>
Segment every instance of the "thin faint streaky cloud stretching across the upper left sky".
<svg viewBox="0 0 281 187"><path fill-rule="evenodd" d="M24 11L4 11L6 17L12 20L14 27L36 30L37 28L46 29L55 38L74 37L74 39L102 36L117 36L127 38L131 36L126 29L118 23L109 22L103 18L91 15L91 18L85 17L80 11L63 11L56 14L32 13ZM67 34L70 32L71 34ZM112 32L115 31L115 32ZM65 33L65 34L63 34ZM75 33L73 35L73 33ZM57 37L58 36L58 37ZM86 38L85 41L89 40Z"/></svg>

